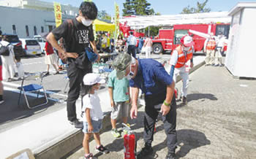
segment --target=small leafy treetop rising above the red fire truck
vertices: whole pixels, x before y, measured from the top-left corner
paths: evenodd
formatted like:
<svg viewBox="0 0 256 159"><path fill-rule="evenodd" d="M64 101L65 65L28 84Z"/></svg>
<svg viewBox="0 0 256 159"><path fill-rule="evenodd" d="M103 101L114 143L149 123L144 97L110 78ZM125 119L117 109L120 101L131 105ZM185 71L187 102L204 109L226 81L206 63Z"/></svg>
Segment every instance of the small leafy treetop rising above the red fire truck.
<svg viewBox="0 0 256 159"><path fill-rule="evenodd" d="M205 8L207 2L208 0L204 1L203 3L200 3L199 1L197 1L197 7L190 7L190 6L184 7L184 9L182 9L181 14L210 12L211 11L210 8Z"/></svg>

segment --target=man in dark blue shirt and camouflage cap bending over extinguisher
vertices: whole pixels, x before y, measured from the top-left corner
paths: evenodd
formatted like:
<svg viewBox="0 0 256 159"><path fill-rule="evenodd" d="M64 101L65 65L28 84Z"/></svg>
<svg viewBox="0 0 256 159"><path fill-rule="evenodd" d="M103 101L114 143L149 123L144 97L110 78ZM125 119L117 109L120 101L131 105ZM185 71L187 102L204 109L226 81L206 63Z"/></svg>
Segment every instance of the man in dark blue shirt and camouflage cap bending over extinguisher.
<svg viewBox="0 0 256 159"><path fill-rule="evenodd" d="M127 53L118 55L113 61L118 79L126 77L132 87L131 118L138 113L139 89L145 94L145 117L143 139L145 147L137 158L146 158L153 153L151 143L154 136L154 124L159 112L167 134L168 153L166 158L175 158L176 138L176 101L174 97L174 82L161 63L151 58L138 59Z"/></svg>

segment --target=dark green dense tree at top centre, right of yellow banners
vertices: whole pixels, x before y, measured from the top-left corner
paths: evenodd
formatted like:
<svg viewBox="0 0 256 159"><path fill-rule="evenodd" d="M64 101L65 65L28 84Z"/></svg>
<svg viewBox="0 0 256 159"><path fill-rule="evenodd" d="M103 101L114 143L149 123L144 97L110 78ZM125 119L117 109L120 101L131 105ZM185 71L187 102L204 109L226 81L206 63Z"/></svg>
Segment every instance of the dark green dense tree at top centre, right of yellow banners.
<svg viewBox="0 0 256 159"><path fill-rule="evenodd" d="M154 9L146 0L126 0L123 5L123 16L154 15Z"/></svg>

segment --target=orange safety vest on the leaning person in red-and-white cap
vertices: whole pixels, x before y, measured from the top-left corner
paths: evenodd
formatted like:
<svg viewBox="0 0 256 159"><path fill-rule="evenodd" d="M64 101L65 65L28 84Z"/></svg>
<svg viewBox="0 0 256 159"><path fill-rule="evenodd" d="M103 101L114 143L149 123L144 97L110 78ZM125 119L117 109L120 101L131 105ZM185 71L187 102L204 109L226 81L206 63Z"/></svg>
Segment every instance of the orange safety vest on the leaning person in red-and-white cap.
<svg viewBox="0 0 256 159"><path fill-rule="evenodd" d="M181 50L181 45L179 45L178 47L176 47L175 49L178 52L178 61L176 63L175 68L181 68L182 66L185 65L185 63L187 63L187 61L189 61L190 59L193 58L193 50L192 47L190 47L189 51L187 52L187 56L185 56L185 54L183 53L183 51Z"/></svg>

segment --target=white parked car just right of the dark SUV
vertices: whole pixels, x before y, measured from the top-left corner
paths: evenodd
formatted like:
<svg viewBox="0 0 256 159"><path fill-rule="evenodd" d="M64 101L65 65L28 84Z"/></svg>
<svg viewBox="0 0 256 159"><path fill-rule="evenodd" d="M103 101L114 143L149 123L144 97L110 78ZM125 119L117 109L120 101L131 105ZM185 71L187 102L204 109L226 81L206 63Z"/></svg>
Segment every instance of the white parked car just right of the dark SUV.
<svg viewBox="0 0 256 159"><path fill-rule="evenodd" d="M36 39L20 39L25 55L41 55L41 47Z"/></svg>

